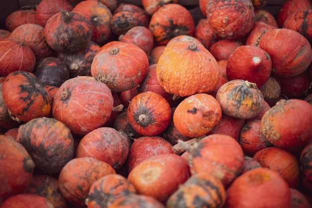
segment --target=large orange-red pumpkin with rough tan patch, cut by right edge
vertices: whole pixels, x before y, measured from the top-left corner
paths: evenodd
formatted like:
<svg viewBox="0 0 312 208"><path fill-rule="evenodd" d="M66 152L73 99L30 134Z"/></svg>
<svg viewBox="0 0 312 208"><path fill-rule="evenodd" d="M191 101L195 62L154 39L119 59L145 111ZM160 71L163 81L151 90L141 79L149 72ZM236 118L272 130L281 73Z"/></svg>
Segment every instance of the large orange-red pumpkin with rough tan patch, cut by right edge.
<svg viewBox="0 0 312 208"><path fill-rule="evenodd" d="M305 115L295 119L297 115ZM311 142L312 106L300 99L280 100L261 119L261 133L273 145L301 152Z"/></svg>

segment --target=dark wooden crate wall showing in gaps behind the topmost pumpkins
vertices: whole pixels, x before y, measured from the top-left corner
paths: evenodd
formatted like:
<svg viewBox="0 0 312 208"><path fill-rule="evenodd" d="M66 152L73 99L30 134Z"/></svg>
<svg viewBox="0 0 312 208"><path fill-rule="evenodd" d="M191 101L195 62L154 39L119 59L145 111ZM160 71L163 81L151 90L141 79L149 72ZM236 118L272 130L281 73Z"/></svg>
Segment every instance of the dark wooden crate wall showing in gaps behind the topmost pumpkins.
<svg viewBox="0 0 312 208"><path fill-rule="evenodd" d="M5 18L21 6L38 4L41 0L0 0L0 29L5 29ZM286 0L271 0L263 9L277 16L280 7ZM77 3L77 2L76 2ZM142 0L118 0L118 3L132 3L142 6ZM204 18L198 3L199 0L178 0L178 3L184 5L193 15L195 23L200 18Z"/></svg>

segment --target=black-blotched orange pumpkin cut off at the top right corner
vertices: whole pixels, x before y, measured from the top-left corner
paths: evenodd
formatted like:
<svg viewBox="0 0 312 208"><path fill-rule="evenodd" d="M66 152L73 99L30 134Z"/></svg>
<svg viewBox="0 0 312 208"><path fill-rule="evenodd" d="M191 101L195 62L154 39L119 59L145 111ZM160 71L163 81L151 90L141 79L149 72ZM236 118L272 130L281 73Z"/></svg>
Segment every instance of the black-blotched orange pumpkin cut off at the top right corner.
<svg viewBox="0 0 312 208"><path fill-rule="evenodd" d="M303 36L305 36L310 44L312 43L312 29L311 25L312 22L309 21L312 17L312 9L305 9L298 11L296 13L293 13L290 15L284 22L283 28L292 29Z"/></svg>

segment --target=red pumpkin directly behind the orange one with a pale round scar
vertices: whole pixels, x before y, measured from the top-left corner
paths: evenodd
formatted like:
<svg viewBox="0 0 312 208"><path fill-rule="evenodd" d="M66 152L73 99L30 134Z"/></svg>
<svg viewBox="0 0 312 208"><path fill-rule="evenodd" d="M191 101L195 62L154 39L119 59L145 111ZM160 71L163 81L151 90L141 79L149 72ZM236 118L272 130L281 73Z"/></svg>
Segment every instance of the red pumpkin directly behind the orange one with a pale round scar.
<svg viewBox="0 0 312 208"><path fill-rule="evenodd" d="M128 173L143 160L160 154L174 154L172 145L159 136L142 136L132 143L126 162Z"/></svg>

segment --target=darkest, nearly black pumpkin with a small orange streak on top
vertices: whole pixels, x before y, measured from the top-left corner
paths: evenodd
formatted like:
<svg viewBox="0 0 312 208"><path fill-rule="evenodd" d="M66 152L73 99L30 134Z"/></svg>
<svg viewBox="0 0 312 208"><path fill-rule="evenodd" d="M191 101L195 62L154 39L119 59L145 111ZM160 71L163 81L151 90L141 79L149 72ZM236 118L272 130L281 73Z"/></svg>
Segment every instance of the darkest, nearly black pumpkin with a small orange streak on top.
<svg viewBox="0 0 312 208"><path fill-rule="evenodd" d="M56 57L45 57L37 61L33 74L42 83L55 87L60 87L69 79L67 66Z"/></svg>

